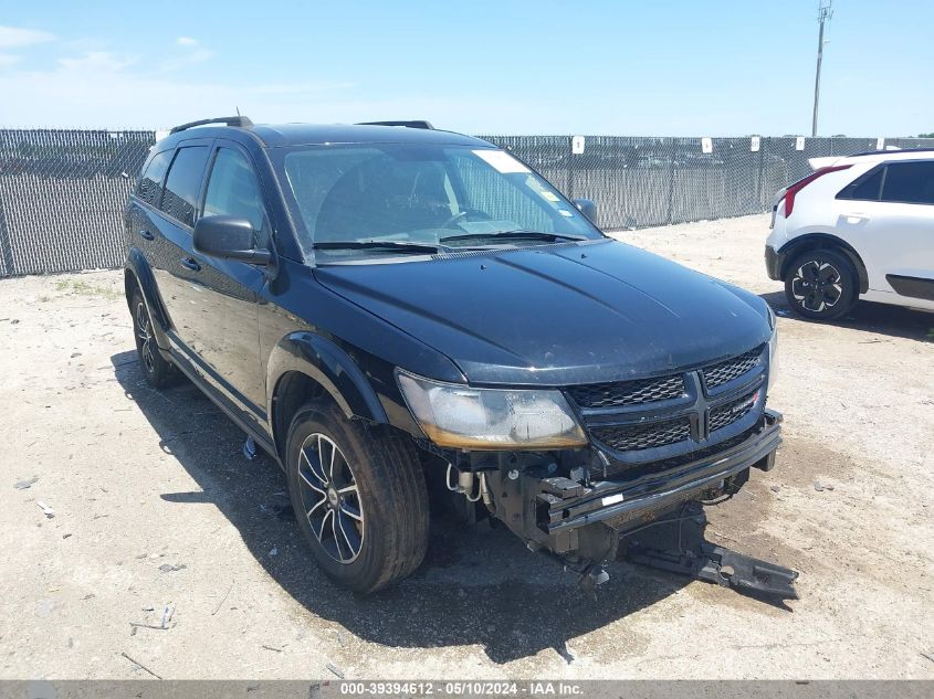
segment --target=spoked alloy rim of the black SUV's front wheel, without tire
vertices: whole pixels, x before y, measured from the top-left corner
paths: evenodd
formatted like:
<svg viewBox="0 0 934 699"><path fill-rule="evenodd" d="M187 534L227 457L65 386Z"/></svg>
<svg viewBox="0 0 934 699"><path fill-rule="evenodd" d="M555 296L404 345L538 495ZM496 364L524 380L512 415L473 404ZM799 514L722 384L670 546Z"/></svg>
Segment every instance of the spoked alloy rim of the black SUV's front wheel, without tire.
<svg viewBox="0 0 934 699"><path fill-rule="evenodd" d="M327 435L309 434L298 453L302 509L324 551L353 563L364 544L364 510L354 472Z"/></svg>

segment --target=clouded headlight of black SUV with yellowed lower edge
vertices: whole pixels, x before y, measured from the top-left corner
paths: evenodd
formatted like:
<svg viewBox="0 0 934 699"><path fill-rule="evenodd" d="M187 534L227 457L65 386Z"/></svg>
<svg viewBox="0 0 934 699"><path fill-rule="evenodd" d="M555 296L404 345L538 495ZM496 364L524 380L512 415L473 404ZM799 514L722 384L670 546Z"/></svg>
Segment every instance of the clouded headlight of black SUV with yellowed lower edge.
<svg viewBox="0 0 934 699"><path fill-rule="evenodd" d="M455 448L565 448L587 436L560 391L473 389L399 371L399 388L424 434Z"/></svg>

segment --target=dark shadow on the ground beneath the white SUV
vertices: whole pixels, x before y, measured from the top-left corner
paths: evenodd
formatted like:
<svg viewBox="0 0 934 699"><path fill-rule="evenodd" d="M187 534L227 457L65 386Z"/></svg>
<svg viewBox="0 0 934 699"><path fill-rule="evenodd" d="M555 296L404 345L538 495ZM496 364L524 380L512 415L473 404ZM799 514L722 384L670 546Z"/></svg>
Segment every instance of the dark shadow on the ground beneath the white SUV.
<svg viewBox="0 0 934 699"><path fill-rule="evenodd" d="M759 296L781 318L798 322L833 325L906 340L931 341L934 339L934 313L861 300L853 306L850 313L838 320L818 321L808 320L793 311L783 292L760 294Z"/></svg>

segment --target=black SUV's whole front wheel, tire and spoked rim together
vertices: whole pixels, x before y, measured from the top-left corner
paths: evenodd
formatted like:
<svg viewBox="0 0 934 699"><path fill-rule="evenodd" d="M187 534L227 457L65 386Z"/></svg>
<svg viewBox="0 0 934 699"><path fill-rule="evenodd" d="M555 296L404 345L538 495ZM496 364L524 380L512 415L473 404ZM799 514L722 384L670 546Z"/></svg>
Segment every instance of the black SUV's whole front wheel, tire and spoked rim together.
<svg viewBox="0 0 934 699"><path fill-rule="evenodd" d="M328 578L370 593L419 566L428 491L408 438L311 403L292 421L285 457L298 527Z"/></svg>

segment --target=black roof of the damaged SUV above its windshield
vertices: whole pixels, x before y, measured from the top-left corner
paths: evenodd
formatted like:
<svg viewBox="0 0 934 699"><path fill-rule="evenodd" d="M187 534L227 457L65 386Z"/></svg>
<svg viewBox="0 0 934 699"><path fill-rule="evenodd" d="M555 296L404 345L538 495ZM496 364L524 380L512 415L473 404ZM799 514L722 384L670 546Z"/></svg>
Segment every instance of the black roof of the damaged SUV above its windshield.
<svg viewBox="0 0 934 699"><path fill-rule="evenodd" d="M366 124L255 124L244 126L198 126L169 138L222 137L250 134L266 148L324 144L437 144L490 148L492 144L463 134L439 129Z"/></svg>

